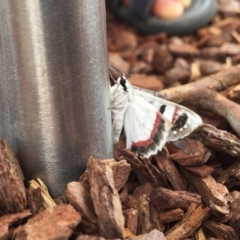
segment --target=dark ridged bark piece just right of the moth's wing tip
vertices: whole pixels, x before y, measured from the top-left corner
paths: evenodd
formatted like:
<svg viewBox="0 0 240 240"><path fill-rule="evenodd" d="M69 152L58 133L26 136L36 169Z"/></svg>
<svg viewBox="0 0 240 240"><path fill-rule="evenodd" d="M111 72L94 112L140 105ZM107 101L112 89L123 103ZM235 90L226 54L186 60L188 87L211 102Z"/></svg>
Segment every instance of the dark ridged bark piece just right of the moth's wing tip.
<svg viewBox="0 0 240 240"><path fill-rule="evenodd" d="M240 139L235 135L207 124L200 126L197 132L206 146L234 157L240 155Z"/></svg>

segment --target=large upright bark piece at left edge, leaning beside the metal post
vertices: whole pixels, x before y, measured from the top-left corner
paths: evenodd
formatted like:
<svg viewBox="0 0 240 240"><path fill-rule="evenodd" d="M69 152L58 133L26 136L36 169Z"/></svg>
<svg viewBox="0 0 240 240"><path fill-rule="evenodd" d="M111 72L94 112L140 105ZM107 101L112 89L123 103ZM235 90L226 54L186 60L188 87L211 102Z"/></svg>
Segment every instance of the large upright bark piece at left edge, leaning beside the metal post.
<svg viewBox="0 0 240 240"><path fill-rule="evenodd" d="M0 139L0 214L16 213L27 206L24 176L12 150Z"/></svg>

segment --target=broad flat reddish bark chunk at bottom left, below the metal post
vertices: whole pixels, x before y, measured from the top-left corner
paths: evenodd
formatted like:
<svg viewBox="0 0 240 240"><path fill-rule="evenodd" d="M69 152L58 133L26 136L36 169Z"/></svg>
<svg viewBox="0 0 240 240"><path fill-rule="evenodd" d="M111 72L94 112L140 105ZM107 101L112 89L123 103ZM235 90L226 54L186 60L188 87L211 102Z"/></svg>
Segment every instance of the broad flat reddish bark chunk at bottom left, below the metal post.
<svg viewBox="0 0 240 240"><path fill-rule="evenodd" d="M80 221L80 214L70 204L57 205L41 211L18 227L14 239L69 239Z"/></svg>

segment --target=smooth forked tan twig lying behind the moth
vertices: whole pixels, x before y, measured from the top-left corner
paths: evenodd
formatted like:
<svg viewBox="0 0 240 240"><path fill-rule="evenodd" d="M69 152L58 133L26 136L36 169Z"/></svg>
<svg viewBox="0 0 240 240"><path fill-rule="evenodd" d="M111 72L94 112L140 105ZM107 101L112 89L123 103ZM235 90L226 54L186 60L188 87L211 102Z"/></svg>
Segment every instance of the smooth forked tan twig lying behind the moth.
<svg viewBox="0 0 240 240"><path fill-rule="evenodd" d="M159 94L177 103L190 103L224 117L240 136L240 105L219 92L240 83L240 65L196 82L162 90Z"/></svg>

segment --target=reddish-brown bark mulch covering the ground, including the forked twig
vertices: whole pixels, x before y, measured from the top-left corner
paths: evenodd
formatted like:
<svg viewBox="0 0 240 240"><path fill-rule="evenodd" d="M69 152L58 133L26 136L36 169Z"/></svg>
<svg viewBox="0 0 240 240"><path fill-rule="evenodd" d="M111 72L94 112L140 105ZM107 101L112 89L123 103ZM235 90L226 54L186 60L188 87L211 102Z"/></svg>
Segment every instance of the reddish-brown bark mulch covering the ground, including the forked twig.
<svg viewBox="0 0 240 240"><path fill-rule="evenodd" d="M204 124L149 159L123 136L116 159L90 157L54 200L40 179L25 189L1 140L0 239L239 239L240 1L220 0L209 26L181 37L140 35L110 13L107 34L111 65Z"/></svg>

